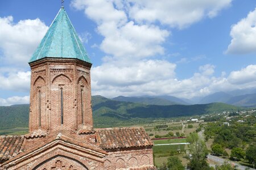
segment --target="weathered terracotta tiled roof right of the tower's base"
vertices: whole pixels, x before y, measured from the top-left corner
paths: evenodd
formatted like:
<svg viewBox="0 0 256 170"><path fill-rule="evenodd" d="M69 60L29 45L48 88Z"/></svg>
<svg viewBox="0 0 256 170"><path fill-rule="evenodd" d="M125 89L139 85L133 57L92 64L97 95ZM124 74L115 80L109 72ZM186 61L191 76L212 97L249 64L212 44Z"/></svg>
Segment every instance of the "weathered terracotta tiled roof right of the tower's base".
<svg viewBox="0 0 256 170"><path fill-rule="evenodd" d="M127 148L153 146L144 128L106 128L96 129L96 139L101 148Z"/></svg>

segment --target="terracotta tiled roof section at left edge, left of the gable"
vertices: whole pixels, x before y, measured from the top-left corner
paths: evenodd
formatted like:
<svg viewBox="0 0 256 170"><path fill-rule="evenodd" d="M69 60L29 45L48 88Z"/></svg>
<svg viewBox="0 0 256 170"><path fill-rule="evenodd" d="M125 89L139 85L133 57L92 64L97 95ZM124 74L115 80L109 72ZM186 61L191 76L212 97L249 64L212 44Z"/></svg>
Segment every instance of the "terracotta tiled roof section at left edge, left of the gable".
<svg viewBox="0 0 256 170"><path fill-rule="evenodd" d="M0 137L0 162L11 159L21 151L24 136Z"/></svg>

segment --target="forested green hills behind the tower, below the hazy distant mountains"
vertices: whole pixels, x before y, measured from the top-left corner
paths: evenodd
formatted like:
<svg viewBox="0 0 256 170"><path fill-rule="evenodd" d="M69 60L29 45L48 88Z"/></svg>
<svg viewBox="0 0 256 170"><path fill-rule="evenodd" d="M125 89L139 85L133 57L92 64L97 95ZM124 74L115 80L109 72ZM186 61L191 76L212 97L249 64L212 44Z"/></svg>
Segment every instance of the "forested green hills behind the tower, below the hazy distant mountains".
<svg viewBox="0 0 256 170"><path fill-rule="evenodd" d="M222 111L237 111L238 107L224 103L196 105L146 105L115 101L92 96L94 126L110 127L140 124L157 118L192 116ZM0 130L28 126L29 105L0 107Z"/></svg>

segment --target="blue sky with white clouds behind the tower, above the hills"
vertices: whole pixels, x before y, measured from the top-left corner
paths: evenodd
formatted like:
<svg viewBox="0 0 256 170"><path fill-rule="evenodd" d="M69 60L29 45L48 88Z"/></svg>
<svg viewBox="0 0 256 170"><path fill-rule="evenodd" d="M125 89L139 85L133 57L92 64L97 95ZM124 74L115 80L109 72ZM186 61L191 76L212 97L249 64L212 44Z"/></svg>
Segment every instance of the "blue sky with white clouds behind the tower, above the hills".
<svg viewBox="0 0 256 170"><path fill-rule="evenodd" d="M0 105L29 102L27 62L60 6L0 1ZM64 6L93 62L93 95L191 99L255 87L255 1L73 0Z"/></svg>

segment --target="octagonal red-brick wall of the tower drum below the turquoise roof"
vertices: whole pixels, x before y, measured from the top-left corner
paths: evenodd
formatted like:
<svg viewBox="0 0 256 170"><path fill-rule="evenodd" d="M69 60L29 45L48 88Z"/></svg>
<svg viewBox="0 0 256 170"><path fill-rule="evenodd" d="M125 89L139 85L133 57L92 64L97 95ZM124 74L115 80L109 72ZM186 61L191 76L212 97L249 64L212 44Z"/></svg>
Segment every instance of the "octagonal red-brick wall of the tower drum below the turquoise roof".
<svg viewBox="0 0 256 170"><path fill-rule="evenodd" d="M38 129L51 133L93 127L88 63L76 59L45 59L31 64L29 127L30 133Z"/></svg>

